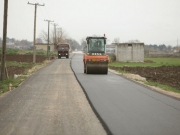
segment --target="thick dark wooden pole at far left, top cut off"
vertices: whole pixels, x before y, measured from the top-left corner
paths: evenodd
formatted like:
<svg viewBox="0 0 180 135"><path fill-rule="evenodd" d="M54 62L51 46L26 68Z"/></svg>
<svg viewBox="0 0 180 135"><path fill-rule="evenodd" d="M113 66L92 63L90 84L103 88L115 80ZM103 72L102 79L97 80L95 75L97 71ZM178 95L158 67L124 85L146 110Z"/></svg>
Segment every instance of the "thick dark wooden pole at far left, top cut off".
<svg viewBox="0 0 180 135"><path fill-rule="evenodd" d="M3 46L1 56L1 81L5 77L5 61L6 61L6 37L7 37L7 16L8 16L8 0L4 0L4 22L3 22Z"/></svg>

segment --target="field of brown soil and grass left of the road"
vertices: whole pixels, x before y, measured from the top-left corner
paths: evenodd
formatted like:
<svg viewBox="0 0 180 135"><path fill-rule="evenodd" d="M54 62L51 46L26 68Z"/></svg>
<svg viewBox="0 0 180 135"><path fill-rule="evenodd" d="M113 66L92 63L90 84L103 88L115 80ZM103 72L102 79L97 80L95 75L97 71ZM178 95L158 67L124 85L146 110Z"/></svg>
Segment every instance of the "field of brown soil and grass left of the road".
<svg viewBox="0 0 180 135"><path fill-rule="evenodd" d="M1 58L1 55L0 55ZM52 59L54 57L50 57ZM19 55L19 54L7 54L6 55L6 67L8 71L9 79L0 81L0 94L9 90L9 84L13 87L18 85L26 78L28 71L35 66L41 65L47 57L45 55L36 55L36 63L32 63L33 55ZM0 70L1 70L1 59L0 59ZM33 71L32 71L33 72ZM14 75L23 75L17 79L13 79Z"/></svg>

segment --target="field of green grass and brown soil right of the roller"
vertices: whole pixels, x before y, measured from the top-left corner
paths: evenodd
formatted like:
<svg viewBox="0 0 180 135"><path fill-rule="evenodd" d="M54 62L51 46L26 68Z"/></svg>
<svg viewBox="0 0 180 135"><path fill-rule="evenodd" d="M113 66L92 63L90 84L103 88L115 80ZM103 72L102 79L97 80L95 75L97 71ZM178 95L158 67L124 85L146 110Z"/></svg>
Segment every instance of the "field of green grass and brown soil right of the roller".
<svg viewBox="0 0 180 135"><path fill-rule="evenodd" d="M146 58L144 63L113 62L109 68L139 74L154 85L180 93L180 58Z"/></svg>

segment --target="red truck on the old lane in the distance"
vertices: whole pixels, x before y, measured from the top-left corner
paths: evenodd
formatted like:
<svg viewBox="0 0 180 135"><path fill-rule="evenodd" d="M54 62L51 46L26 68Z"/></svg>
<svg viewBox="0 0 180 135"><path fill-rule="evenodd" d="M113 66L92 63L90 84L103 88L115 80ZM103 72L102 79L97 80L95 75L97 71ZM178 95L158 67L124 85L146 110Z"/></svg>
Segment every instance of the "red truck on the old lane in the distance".
<svg viewBox="0 0 180 135"><path fill-rule="evenodd" d="M61 59L61 57L69 58L69 50L70 45L68 43L57 44L58 59Z"/></svg>

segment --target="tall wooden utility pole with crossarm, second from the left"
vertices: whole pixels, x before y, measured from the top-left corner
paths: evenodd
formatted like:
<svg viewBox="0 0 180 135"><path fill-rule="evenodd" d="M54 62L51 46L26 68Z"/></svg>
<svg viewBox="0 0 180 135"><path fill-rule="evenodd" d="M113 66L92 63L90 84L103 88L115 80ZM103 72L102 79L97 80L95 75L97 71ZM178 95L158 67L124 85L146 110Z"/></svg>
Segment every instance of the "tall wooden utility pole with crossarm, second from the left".
<svg viewBox="0 0 180 135"><path fill-rule="evenodd" d="M35 10L34 10L34 47L33 47L33 63L36 63L36 13L37 13L37 6L44 6L40 5L39 3L29 3L29 5L34 5L35 6Z"/></svg>

